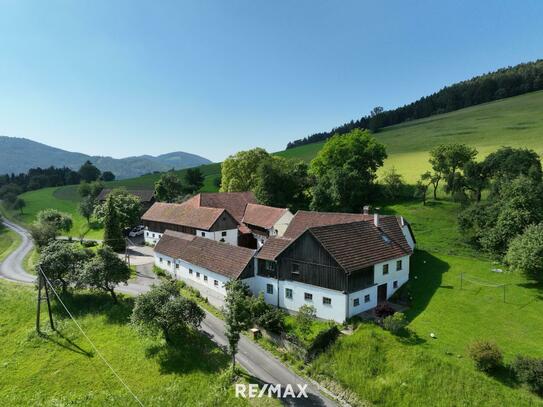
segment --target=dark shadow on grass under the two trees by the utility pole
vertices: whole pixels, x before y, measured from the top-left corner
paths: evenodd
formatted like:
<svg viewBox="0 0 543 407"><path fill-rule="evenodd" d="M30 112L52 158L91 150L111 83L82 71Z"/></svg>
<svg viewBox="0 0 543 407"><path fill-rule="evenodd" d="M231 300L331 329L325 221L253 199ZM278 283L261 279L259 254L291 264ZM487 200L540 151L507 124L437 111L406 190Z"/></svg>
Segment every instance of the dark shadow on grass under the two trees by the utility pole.
<svg viewBox="0 0 543 407"><path fill-rule="evenodd" d="M62 302L75 319L85 316L104 315L106 321L112 324L127 324L130 322L134 298L118 296L119 302L115 304L109 294L83 291L60 294ZM52 302L53 312L63 318L68 317L64 307L58 302Z"/></svg>

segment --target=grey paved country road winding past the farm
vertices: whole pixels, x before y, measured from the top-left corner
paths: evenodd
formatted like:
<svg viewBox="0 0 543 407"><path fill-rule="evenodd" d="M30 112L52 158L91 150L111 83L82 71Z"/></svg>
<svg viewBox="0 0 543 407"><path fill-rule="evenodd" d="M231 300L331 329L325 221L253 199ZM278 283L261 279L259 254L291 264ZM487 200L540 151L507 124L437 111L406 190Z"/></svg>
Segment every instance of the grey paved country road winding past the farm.
<svg viewBox="0 0 543 407"><path fill-rule="evenodd" d="M26 229L7 220L3 220L5 226L19 235L21 235L21 245L13 251L2 264L0 264L0 278L10 281L31 284L35 281L35 276L28 274L23 268L23 260L27 253L32 250L33 243ZM132 280L128 285L119 286L120 292L129 295L138 295L150 289L151 285L157 281L156 276L151 271L151 267L146 265L138 266L138 277ZM221 347L226 347L227 340L225 336L224 322L206 311L206 318L202 322L201 330L209 336L215 343ZM281 384L286 386L290 384L297 393L298 385L307 385L307 398L286 398L281 401L288 406L336 406L331 399L323 396L317 387L301 378L287 366L281 363L277 358L250 339L241 337L237 354L238 363L251 375L254 383Z"/></svg>

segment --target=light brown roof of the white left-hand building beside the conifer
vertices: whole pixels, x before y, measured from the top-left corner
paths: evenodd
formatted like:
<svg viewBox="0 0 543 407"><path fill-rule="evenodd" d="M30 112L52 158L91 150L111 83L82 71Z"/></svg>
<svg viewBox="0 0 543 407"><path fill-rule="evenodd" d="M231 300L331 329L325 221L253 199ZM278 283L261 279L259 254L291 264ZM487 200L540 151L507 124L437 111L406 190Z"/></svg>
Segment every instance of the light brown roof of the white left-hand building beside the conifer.
<svg viewBox="0 0 543 407"><path fill-rule="evenodd" d="M209 230L223 212L224 209L218 208L195 208L185 204L155 202L141 219Z"/></svg>

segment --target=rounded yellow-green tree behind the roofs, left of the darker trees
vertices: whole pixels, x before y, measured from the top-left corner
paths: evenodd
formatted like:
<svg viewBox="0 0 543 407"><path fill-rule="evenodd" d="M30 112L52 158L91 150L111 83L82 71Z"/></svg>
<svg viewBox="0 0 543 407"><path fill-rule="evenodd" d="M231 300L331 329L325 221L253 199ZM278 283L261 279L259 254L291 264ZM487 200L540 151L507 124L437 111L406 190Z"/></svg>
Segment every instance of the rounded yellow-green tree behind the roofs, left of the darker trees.
<svg viewBox="0 0 543 407"><path fill-rule="evenodd" d="M254 190L258 167L271 156L263 148L239 151L221 164L221 192Z"/></svg>

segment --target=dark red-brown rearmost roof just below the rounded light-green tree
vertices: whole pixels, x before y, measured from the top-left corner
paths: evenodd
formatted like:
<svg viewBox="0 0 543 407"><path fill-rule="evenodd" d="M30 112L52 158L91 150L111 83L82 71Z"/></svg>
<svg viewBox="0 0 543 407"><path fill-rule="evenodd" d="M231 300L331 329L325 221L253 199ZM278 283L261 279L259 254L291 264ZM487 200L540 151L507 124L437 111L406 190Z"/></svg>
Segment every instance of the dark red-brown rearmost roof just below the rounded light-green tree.
<svg viewBox="0 0 543 407"><path fill-rule="evenodd" d="M256 202L252 192L202 192L183 204L194 207L224 208L241 223L247 204Z"/></svg>

